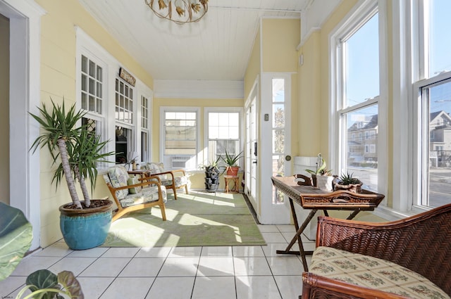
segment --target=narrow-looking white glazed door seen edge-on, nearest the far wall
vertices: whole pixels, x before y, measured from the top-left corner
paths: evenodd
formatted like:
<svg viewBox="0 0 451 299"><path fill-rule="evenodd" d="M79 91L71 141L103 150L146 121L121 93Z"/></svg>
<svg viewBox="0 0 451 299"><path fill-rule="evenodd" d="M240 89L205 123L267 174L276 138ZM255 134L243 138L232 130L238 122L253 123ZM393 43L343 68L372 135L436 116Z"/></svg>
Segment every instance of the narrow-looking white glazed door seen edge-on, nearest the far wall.
<svg viewBox="0 0 451 299"><path fill-rule="evenodd" d="M246 179L245 193L259 214L257 201L257 84L246 103Z"/></svg>

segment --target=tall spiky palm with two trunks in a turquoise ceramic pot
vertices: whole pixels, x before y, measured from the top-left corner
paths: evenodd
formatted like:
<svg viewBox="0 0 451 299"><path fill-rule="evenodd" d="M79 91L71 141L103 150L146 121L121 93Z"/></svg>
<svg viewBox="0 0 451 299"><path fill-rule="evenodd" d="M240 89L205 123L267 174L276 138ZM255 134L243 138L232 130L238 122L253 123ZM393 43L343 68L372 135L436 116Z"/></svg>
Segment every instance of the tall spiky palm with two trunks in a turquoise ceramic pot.
<svg viewBox="0 0 451 299"><path fill-rule="evenodd" d="M111 225L111 205L108 200L91 200L85 183L89 178L91 192L97 181L98 163L108 162L106 158L113 152L105 153L108 141L101 141L100 136L89 131L87 125L78 125L86 112L75 111L75 105L67 111L64 105L51 101L48 110L45 105L38 108L41 115L32 115L42 127L40 134L31 148L48 148L52 165L56 166L52 183L56 188L66 179L71 203L61 205L60 228L64 241L75 250L93 248L104 243ZM75 182L80 184L84 201L80 201Z"/></svg>

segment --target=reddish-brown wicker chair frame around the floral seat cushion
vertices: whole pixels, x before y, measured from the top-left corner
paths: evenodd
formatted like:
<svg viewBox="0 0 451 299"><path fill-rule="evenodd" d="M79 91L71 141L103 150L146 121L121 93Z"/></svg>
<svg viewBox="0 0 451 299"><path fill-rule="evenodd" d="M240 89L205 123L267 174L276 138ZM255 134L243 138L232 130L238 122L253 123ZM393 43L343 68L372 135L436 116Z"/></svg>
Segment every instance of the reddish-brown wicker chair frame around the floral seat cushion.
<svg viewBox="0 0 451 299"><path fill-rule="evenodd" d="M451 294L451 204L385 223L319 217L316 246L316 250L327 246L393 262ZM302 274L303 299L406 298L309 271Z"/></svg>

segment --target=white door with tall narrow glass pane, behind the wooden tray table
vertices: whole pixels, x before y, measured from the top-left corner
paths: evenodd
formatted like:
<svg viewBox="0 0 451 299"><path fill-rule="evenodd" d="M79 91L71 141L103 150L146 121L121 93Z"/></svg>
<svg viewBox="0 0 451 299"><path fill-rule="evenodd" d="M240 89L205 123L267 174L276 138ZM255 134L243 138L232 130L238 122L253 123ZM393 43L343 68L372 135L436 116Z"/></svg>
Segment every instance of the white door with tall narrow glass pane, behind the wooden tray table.
<svg viewBox="0 0 451 299"><path fill-rule="evenodd" d="M262 224L290 224L288 198L273 188L271 177L291 175L291 76L267 73L261 79L261 153L259 153ZM260 155L261 154L261 155Z"/></svg>

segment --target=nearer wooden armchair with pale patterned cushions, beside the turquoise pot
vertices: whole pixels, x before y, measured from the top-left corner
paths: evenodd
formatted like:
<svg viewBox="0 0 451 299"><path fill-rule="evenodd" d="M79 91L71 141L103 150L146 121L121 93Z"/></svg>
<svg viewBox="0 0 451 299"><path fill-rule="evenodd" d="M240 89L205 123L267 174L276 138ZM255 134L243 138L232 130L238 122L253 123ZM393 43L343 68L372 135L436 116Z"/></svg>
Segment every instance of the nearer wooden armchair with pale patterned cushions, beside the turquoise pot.
<svg viewBox="0 0 451 299"><path fill-rule="evenodd" d="M129 184L130 177L123 166L109 168L108 174L104 174L106 186L117 205L116 213L112 221L118 220L128 212L142 210L158 205L161 209L161 217L166 220L166 188L161 186L159 177L149 176L137 178L137 183Z"/></svg>

